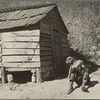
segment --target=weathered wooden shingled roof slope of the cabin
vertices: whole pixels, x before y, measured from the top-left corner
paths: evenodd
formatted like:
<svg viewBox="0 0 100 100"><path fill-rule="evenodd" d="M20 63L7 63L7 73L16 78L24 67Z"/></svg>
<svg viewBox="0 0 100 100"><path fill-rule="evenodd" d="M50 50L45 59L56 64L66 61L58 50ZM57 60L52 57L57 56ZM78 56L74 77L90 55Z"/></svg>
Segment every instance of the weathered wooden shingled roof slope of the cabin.
<svg viewBox="0 0 100 100"><path fill-rule="evenodd" d="M1 12L0 30L36 24L54 7L55 5L48 5Z"/></svg>

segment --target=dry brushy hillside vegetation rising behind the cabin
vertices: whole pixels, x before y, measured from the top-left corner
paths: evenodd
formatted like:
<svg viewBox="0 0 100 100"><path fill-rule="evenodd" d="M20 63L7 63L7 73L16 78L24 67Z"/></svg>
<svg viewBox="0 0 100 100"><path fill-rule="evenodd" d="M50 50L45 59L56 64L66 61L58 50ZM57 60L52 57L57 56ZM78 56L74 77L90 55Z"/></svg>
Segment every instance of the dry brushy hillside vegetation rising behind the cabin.
<svg viewBox="0 0 100 100"><path fill-rule="evenodd" d="M69 31L69 44L90 61L100 65L100 2L99 1L0 1L0 11L11 7L56 3Z"/></svg>

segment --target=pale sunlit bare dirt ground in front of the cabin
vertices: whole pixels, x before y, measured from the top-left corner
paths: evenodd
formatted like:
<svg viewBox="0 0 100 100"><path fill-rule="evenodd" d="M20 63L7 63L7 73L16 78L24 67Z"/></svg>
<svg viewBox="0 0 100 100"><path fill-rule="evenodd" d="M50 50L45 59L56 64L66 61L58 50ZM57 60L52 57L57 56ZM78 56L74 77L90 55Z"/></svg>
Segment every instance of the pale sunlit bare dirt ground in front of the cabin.
<svg viewBox="0 0 100 100"><path fill-rule="evenodd" d="M87 87L89 92L82 92L79 87L69 95L67 78L41 84L0 84L0 99L100 99L100 69L90 74L90 77L91 87ZM74 84L74 87L76 86Z"/></svg>

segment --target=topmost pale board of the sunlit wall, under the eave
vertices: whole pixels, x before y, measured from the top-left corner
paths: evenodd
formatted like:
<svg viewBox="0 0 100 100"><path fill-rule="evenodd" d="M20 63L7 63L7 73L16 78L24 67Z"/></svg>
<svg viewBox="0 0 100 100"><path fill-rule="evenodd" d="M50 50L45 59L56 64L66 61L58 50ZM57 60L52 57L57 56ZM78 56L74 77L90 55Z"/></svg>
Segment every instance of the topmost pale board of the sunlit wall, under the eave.
<svg viewBox="0 0 100 100"><path fill-rule="evenodd" d="M33 36L40 35L40 30L25 30L25 31L15 31L15 32L6 32L2 33L2 37L10 36Z"/></svg>

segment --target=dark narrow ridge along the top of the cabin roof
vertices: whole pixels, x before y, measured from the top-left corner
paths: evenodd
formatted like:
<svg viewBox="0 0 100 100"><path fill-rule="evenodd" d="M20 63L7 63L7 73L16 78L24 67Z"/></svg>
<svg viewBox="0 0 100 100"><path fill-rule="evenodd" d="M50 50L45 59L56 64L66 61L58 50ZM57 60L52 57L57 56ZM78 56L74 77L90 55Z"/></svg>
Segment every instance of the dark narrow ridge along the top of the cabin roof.
<svg viewBox="0 0 100 100"><path fill-rule="evenodd" d="M51 4L38 4L38 5L33 5L33 6L17 6L16 8L11 7L11 8L2 9L2 11L0 11L0 13L17 11L17 10L35 9L35 8L41 8L41 7L47 7L47 6L54 6L54 5L56 6L56 4L54 4L54 3L51 3Z"/></svg>

